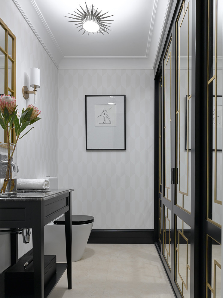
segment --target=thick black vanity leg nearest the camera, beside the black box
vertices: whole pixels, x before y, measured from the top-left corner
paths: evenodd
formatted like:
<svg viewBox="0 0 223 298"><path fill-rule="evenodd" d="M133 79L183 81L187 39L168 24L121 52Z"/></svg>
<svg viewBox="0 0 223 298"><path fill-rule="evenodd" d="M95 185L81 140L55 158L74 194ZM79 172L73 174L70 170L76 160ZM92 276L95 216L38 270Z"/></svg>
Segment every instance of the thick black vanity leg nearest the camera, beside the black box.
<svg viewBox="0 0 223 298"><path fill-rule="evenodd" d="M40 202L38 202L40 203ZM34 297L44 298L44 208L43 203L37 204L33 211L35 219L32 226Z"/></svg>

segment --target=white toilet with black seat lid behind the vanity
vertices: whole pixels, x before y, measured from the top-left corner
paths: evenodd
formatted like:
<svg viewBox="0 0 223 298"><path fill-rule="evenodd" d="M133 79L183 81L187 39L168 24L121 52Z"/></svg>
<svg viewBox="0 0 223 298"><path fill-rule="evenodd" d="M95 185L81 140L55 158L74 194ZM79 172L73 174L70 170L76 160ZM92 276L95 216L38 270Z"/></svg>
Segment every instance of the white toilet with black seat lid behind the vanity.
<svg viewBox="0 0 223 298"><path fill-rule="evenodd" d="M50 188L58 188L57 177L47 177ZM79 261L86 247L94 217L72 215L72 262ZM44 254L56 255L57 262L66 263L64 215L44 227Z"/></svg>

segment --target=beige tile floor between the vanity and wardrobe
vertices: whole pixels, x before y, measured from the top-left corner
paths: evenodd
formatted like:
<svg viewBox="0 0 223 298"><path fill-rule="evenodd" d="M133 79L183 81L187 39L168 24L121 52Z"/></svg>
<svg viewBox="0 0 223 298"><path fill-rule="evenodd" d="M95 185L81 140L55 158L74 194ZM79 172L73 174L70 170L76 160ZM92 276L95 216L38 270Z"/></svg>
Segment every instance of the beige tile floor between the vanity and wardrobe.
<svg viewBox="0 0 223 298"><path fill-rule="evenodd" d="M174 298L153 244L87 244L50 298Z"/></svg>

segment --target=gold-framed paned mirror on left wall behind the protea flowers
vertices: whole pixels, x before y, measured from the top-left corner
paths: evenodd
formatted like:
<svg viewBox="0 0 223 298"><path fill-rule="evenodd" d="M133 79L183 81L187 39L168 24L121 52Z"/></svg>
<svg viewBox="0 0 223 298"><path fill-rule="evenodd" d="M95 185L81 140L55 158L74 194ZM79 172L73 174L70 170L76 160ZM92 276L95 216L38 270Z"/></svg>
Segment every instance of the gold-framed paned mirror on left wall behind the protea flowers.
<svg viewBox="0 0 223 298"><path fill-rule="evenodd" d="M0 18L0 95L16 97L16 37ZM6 142L6 133L0 127L0 142ZM11 143L15 142L12 129Z"/></svg>

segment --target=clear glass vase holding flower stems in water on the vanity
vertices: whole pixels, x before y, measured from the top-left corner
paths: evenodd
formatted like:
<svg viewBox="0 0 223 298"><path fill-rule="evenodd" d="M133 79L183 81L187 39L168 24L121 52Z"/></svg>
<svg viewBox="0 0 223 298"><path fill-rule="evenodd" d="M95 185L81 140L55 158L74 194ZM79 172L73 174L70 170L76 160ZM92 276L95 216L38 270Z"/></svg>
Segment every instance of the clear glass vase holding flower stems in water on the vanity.
<svg viewBox="0 0 223 298"><path fill-rule="evenodd" d="M0 143L0 196L17 194L16 144Z"/></svg>

